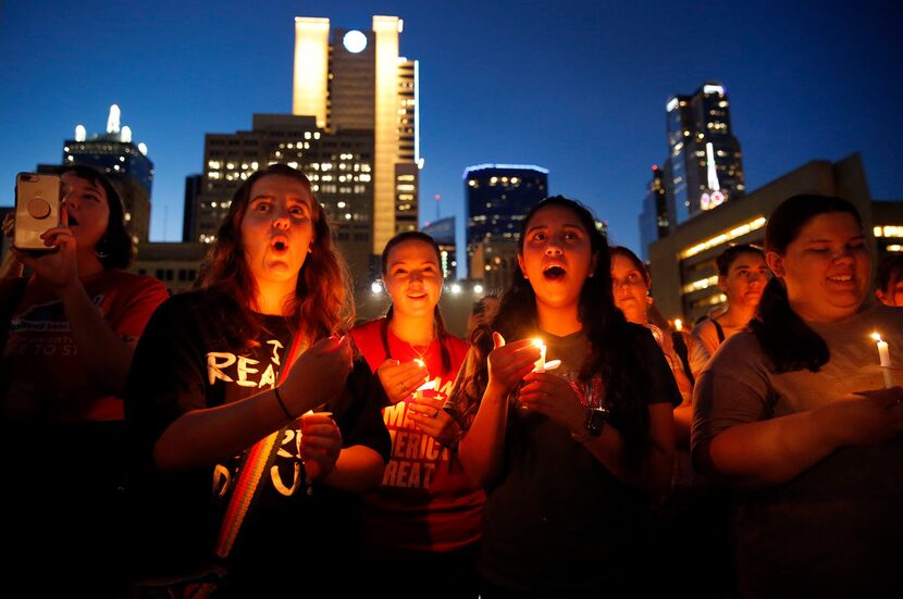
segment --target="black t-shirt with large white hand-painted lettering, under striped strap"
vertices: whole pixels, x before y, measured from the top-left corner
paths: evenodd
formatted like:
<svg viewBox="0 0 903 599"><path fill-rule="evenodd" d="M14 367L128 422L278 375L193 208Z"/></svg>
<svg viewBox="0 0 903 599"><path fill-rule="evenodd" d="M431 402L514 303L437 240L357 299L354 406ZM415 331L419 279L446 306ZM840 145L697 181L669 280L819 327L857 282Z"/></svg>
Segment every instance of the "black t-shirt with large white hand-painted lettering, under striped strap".
<svg viewBox="0 0 903 599"><path fill-rule="evenodd" d="M240 401L272 387L292 346L281 316L258 315L262 324L250 350L236 350L223 334L223 297L213 291L175 296L154 313L135 352L126 391L126 420L133 432L136 474L134 504L143 547L139 574L184 572L209 563L240 456L184 474L152 466L153 445L182 414ZM331 402L345 447L361 445L385 460L389 438L371 388L372 374L357 359L344 394ZM358 497L314 485L311 494L298 456L299 430L285 428L272 465L264 472L228 558L234 587L290 588L293 567L337 553L354 554L359 536ZM148 525L149 524L149 525ZM345 558L343 558L344 560ZM337 566L336 566L337 570Z"/></svg>

